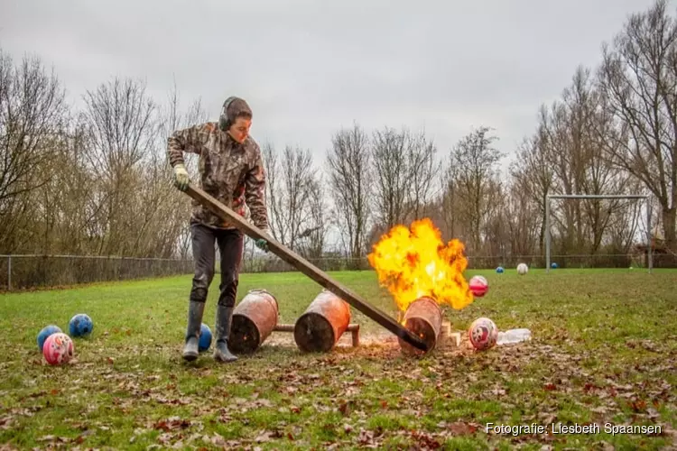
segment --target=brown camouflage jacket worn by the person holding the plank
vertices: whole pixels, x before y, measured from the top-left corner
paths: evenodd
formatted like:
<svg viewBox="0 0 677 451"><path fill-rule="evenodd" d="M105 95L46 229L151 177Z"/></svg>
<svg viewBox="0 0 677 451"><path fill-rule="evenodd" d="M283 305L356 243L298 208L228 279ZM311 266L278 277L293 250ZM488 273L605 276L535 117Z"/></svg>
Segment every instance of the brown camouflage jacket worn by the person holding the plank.
<svg viewBox="0 0 677 451"><path fill-rule="evenodd" d="M251 137L240 144L222 132L218 123L199 124L178 130L167 140L167 155L172 168L184 162L183 152L199 155L201 189L243 217L246 202L254 225L268 228L264 162L261 149ZM190 220L213 228L236 228L196 200L192 201Z"/></svg>

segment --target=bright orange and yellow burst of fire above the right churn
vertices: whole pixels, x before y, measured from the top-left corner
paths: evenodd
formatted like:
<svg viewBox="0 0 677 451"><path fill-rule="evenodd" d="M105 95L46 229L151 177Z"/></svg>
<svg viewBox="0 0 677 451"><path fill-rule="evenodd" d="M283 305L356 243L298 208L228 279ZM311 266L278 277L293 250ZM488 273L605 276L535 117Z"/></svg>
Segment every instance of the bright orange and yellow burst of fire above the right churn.
<svg viewBox="0 0 677 451"><path fill-rule="evenodd" d="M411 229L394 226L374 245L368 259L401 311L422 296L461 309L473 299L463 277L468 266L464 250L456 239L442 243L440 230L424 218Z"/></svg>

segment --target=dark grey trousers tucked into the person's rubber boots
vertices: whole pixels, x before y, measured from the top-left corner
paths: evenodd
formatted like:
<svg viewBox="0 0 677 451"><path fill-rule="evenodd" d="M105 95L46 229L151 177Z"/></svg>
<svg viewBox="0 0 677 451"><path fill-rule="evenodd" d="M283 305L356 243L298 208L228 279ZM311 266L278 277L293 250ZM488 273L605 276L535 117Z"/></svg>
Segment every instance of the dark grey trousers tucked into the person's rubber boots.
<svg viewBox="0 0 677 451"><path fill-rule="evenodd" d="M195 275L190 290L190 300L205 302L209 285L214 279L214 264L218 244L221 254L221 284L218 286L218 305L234 307L237 295L240 264L245 235L237 229L218 230L201 224L190 225Z"/></svg>

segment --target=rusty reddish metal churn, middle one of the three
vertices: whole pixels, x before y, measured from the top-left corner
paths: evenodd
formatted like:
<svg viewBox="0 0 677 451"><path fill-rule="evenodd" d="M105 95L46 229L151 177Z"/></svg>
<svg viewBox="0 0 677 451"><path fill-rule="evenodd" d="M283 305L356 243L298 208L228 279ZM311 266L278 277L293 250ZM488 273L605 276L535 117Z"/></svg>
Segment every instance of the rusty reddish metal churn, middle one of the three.
<svg viewBox="0 0 677 451"><path fill-rule="evenodd" d="M350 306L329 290L322 290L296 320L294 340L302 352L327 352L350 323Z"/></svg>

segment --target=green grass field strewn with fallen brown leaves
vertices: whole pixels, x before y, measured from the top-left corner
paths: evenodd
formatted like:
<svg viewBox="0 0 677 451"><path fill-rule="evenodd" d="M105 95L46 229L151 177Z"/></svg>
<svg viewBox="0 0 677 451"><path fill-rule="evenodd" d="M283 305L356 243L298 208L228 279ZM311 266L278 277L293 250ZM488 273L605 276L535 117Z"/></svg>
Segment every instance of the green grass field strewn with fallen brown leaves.
<svg viewBox="0 0 677 451"><path fill-rule="evenodd" d="M533 340L475 353L441 346L400 353L393 336L353 309L365 344L300 354L274 333L251 356L181 360L190 277L0 295L0 444L5 448L662 449L677 446L677 272L533 270L483 273L485 298L447 309L455 330L487 316ZM472 274L468 274L468 277ZM374 272L333 273L393 313ZM293 323L320 287L299 273L244 274L274 293ZM218 276L205 322L214 327ZM95 329L77 360L51 367L36 335L68 332L76 313ZM371 339L370 339L371 336ZM286 340L286 341L285 341ZM487 423L600 425L597 434L495 434ZM660 425L661 434L605 432L605 423ZM0 445L0 448L3 446Z"/></svg>

